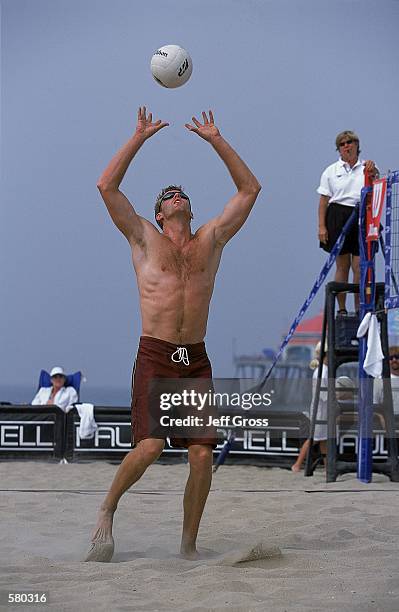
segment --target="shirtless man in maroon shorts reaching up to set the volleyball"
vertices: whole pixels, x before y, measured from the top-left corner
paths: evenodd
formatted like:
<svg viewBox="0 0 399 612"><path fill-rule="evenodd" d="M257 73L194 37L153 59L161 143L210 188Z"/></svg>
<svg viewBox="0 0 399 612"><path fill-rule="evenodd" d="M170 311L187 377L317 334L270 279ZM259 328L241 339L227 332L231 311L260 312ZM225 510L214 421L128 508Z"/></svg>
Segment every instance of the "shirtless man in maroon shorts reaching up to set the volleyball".
<svg viewBox="0 0 399 612"><path fill-rule="evenodd" d="M225 244L248 217L261 189L255 176L221 136L213 114L202 113L186 128L213 147L226 164L237 192L223 212L191 232L191 204L181 187L162 190L155 219L162 233L136 213L119 185L145 141L168 123L153 122L145 107L138 111L136 131L103 172L98 189L117 228L132 247L142 315L142 336L132 393L134 449L115 475L103 501L86 561L110 561L114 551L112 523L118 501L162 453L164 440L151 436L146 425L145 392L136 387L154 377L211 378L204 337L216 272ZM166 369L165 369L166 368ZM168 369L169 368L169 369ZM170 371L170 373L169 373ZM211 485L212 439L186 440L190 473L184 493L181 554L198 556L199 523Z"/></svg>

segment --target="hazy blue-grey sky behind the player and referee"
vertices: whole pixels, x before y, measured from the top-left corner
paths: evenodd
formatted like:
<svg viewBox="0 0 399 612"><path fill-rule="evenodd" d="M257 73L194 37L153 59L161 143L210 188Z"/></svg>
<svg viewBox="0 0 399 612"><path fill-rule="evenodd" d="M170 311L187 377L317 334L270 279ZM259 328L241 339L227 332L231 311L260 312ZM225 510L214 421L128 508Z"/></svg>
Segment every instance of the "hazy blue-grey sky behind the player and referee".
<svg viewBox="0 0 399 612"><path fill-rule="evenodd" d="M81 369L125 387L140 335L125 238L96 181L145 104L171 126L122 183L152 218L160 189L182 183L194 229L234 186L211 147L185 130L212 108L263 190L226 247L207 347L216 376L238 353L277 347L324 260L316 188L353 129L362 156L399 167L399 2L393 0L3 0L1 381L42 367ZM163 44L193 59L184 87L161 88ZM382 280L382 278L381 278ZM309 314L320 310L320 297Z"/></svg>

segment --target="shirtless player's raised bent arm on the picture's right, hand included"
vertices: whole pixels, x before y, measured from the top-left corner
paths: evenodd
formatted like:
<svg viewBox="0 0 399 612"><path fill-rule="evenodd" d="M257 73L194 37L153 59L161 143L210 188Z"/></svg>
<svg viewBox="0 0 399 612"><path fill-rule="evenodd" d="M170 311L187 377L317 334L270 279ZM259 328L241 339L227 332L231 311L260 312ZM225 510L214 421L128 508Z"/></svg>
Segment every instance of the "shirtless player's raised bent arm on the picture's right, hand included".
<svg viewBox="0 0 399 612"><path fill-rule="evenodd" d="M212 111L209 111L209 118L205 112L202 113L202 117L203 124L193 117L194 125L186 123L186 128L212 145L226 164L237 187L237 193L226 204L222 214L210 222L215 227L216 241L220 244L226 244L245 223L261 186L241 157L221 136L215 126Z"/></svg>

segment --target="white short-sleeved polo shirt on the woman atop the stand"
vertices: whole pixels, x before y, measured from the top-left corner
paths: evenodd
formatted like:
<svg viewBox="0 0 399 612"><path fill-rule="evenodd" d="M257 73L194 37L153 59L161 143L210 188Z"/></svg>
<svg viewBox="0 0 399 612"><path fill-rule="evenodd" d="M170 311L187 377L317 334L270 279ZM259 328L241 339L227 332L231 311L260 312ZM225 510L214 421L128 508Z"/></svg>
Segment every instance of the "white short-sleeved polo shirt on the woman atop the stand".
<svg viewBox="0 0 399 612"><path fill-rule="evenodd" d="M329 196L328 203L356 206L364 187L364 160L357 160L353 168L341 158L328 166L320 178L317 193Z"/></svg>

